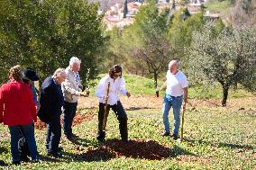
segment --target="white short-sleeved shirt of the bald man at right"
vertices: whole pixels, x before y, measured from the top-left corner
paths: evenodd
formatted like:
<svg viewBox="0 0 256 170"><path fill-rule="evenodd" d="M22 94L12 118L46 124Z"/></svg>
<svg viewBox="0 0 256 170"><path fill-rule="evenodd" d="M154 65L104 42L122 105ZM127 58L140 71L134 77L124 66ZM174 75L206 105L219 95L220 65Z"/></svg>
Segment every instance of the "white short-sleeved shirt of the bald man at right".
<svg viewBox="0 0 256 170"><path fill-rule="evenodd" d="M170 71L167 71L167 88L166 94L171 96L181 96L184 94L183 88L187 87L187 77L180 71L176 75L172 75Z"/></svg>

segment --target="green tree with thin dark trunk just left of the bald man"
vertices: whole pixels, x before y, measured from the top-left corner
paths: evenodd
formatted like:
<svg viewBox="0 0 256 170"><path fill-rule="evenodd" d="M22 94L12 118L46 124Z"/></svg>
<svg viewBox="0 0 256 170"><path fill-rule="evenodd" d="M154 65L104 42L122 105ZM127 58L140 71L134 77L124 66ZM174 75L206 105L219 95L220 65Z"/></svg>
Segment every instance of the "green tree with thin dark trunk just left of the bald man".
<svg viewBox="0 0 256 170"><path fill-rule="evenodd" d="M167 38L167 17L167 11L160 13L155 3L149 2L142 5L133 25L123 31L123 48L153 74L155 87L157 77L167 67L173 51Z"/></svg>

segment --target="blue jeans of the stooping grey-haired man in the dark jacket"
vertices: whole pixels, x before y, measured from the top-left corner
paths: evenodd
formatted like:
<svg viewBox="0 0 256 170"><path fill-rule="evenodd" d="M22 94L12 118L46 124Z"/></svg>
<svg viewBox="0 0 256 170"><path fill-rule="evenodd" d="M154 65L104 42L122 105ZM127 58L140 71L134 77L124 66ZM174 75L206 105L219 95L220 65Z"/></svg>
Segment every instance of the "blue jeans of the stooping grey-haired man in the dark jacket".
<svg viewBox="0 0 256 170"><path fill-rule="evenodd" d="M48 152L57 152L59 141L61 138L60 114L56 114L50 118L47 124L46 148Z"/></svg>

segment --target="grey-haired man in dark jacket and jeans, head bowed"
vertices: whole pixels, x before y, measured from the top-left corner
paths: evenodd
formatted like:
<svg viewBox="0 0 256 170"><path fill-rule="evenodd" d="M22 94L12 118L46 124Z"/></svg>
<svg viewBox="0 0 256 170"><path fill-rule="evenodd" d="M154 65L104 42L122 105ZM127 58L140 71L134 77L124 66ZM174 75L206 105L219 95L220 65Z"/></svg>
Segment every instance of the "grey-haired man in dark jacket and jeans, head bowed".
<svg viewBox="0 0 256 170"><path fill-rule="evenodd" d="M47 123L46 148L52 157L61 157L59 141L61 137L60 114L64 103L60 84L67 75L63 68L58 68L53 76L49 76L41 85L41 108L38 116Z"/></svg>

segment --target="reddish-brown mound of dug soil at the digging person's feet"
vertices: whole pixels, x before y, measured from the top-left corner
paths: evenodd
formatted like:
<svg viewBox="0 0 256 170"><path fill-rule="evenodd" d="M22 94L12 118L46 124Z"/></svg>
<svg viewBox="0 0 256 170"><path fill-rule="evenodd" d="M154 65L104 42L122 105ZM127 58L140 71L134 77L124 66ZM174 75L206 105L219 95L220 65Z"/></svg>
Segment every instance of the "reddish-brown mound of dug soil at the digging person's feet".
<svg viewBox="0 0 256 170"><path fill-rule="evenodd" d="M83 155L87 161L108 160L117 157L133 157L160 160L169 157L171 149L153 140L133 139L129 143L111 139L100 148L89 148Z"/></svg>

